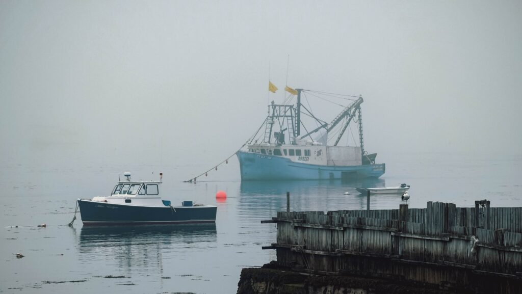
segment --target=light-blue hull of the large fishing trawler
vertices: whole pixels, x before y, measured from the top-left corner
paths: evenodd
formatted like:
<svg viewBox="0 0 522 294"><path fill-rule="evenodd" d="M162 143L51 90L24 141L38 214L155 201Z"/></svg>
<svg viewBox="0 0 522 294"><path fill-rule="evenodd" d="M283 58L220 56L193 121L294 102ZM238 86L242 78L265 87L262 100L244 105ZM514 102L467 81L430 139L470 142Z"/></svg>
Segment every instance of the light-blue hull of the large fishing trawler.
<svg viewBox="0 0 522 294"><path fill-rule="evenodd" d="M384 163L359 166L322 166L245 151L238 151L237 156L243 181L379 178L386 170Z"/></svg>

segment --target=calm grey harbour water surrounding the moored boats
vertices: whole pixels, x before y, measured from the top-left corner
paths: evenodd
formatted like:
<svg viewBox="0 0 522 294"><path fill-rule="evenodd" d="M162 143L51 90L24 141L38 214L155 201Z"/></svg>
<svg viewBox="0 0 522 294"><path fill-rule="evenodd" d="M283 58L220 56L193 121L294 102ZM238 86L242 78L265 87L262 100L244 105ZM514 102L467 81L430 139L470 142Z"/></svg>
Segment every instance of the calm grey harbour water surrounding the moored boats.
<svg viewBox="0 0 522 294"><path fill-rule="evenodd" d="M485 198L492 206L522 206L522 156L419 154L383 161L386 174L373 181L242 183L238 163L231 160L196 184L181 180L207 169L205 164L71 168L5 162L0 168L0 292L235 293L243 267L275 259L275 251L261 246L275 241L276 228L260 220L286 209L286 191L292 210L365 209L366 197L355 187L400 183L411 185L410 207L425 207L427 201L471 207ZM165 199L218 205L216 225L83 228L78 214L74 228L64 226L73 218L77 198L109 193L118 173L131 171L134 179L150 180L160 170ZM226 202L216 202L218 190L228 193ZM400 196L371 199L372 208L379 209L400 203ZM48 227L10 227L40 224ZM25 257L17 259L18 252Z"/></svg>

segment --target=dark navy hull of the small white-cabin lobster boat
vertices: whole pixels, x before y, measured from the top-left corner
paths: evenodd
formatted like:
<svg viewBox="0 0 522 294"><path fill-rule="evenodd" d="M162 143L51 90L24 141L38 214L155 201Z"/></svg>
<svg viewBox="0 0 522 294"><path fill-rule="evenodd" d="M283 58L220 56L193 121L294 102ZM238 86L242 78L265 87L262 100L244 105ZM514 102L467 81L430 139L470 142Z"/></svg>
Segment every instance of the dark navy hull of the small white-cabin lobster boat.
<svg viewBox="0 0 522 294"><path fill-rule="evenodd" d="M148 207L78 200L84 226L197 224L216 221L216 206Z"/></svg>

